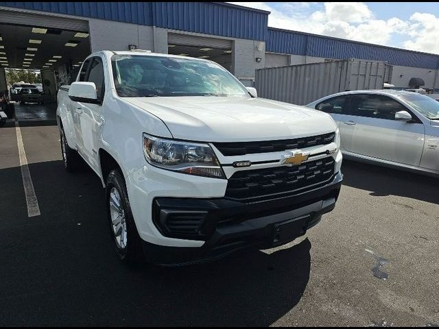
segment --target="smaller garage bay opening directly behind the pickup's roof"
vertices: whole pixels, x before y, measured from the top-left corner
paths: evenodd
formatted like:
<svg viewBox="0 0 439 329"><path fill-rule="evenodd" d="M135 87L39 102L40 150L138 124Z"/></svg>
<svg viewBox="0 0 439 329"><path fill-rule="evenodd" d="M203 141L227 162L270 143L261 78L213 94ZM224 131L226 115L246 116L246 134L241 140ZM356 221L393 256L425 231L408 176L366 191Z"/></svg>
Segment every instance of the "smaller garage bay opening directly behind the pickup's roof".
<svg viewBox="0 0 439 329"><path fill-rule="evenodd" d="M232 52L231 40L168 34L168 53L213 60L230 72L232 72Z"/></svg>

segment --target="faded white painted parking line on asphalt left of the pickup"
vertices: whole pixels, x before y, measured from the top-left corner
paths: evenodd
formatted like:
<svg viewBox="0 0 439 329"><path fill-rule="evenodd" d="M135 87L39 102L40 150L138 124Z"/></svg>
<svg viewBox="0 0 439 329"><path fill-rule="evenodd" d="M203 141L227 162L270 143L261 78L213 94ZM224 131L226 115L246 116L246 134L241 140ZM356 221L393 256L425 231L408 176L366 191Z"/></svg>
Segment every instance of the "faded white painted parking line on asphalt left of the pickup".
<svg viewBox="0 0 439 329"><path fill-rule="evenodd" d="M25 147L23 145L23 137L21 136L19 121L17 120L15 120L15 132L16 132L16 143L19 147L21 177L23 178L23 186L25 188L27 216L28 217L39 216L41 215L40 207L38 206L38 199L36 198L35 195L34 184L32 183L32 178L30 177L29 166L27 166L26 152L25 152Z"/></svg>

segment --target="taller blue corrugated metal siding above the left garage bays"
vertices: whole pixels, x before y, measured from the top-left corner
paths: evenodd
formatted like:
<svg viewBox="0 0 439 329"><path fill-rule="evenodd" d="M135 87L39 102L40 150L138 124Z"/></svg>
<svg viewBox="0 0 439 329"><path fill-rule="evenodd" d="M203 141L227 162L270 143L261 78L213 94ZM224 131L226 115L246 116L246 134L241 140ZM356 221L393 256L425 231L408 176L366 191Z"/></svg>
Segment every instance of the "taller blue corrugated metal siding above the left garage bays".
<svg viewBox="0 0 439 329"><path fill-rule="evenodd" d="M267 36L268 14L221 3L0 2L0 5L250 40L265 40Z"/></svg>

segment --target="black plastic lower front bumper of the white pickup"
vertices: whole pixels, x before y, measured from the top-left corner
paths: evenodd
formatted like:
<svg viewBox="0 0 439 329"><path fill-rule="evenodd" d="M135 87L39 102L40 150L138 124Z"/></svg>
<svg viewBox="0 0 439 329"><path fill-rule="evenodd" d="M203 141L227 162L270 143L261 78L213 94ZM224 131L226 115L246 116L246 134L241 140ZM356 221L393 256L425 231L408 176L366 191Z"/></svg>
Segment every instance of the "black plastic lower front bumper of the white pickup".
<svg viewBox="0 0 439 329"><path fill-rule="evenodd" d="M185 265L220 258L243 247L264 249L289 243L333 210L341 183L342 173L338 172L331 183L311 191L251 203L156 197L152 220L161 234L205 242L194 248L144 241L145 256L151 263Z"/></svg>

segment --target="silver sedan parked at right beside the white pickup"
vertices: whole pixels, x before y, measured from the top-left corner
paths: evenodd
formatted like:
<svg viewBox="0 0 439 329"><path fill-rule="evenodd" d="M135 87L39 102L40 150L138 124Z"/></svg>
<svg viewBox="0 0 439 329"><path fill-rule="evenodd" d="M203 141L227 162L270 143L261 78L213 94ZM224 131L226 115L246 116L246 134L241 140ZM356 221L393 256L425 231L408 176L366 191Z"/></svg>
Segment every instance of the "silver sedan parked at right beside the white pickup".
<svg viewBox="0 0 439 329"><path fill-rule="evenodd" d="M307 105L331 114L345 158L439 175L439 102L396 90L337 93Z"/></svg>

